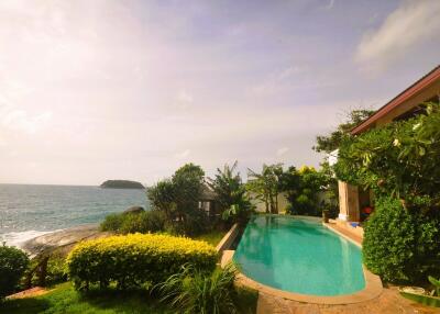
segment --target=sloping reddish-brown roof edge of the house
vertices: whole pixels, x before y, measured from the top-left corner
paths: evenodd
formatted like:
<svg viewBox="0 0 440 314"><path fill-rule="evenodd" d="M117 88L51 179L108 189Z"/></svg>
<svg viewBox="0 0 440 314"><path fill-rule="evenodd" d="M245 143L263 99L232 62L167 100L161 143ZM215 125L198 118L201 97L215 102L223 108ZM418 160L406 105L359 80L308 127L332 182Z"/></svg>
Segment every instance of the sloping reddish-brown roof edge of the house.
<svg viewBox="0 0 440 314"><path fill-rule="evenodd" d="M385 105L383 105L375 113L373 113L370 117L364 120L361 124L355 126L351 131L351 134L356 135L356 134L360 134L360 133L369 130L378 119L381 119L384 115L386 115L388 112L391 112L396 106L400 105L403 102L405 102L409 98L411 98L411 97L416 96L417 93L421 92L424 89L429 87L433 81L436 81L438 79L440 79L440 65L437 66L436 68L433 68L427 75L425 75L418 81L413 83L410 87L405 89L398 96L393 98Z"/></svg>

